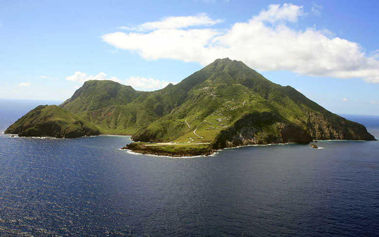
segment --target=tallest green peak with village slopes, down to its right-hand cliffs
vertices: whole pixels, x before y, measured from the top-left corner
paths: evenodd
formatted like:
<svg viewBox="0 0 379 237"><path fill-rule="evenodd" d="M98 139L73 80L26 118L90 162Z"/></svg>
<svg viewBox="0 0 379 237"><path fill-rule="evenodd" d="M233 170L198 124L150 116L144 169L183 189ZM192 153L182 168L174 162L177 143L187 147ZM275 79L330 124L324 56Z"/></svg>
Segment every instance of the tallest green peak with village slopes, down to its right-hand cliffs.
<svg viewBox="0 0 379 237"><path fill-rule="evenodd" d="M176 88L188 90L187 100L138 130L134 140L184 142L192 138L223 148L312 139L373 139L362 125L330 113L291 86L270 82L242 62L218 59L170 87ZM199 136L193 134L194 129Z"/></svg>

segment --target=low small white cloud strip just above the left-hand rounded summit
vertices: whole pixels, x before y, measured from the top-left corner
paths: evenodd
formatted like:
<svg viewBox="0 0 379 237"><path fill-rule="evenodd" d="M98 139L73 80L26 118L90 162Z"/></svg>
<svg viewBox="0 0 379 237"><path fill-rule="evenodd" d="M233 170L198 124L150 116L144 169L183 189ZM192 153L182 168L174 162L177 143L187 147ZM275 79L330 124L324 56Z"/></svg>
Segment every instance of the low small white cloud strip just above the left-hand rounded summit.
<svg viewBox="0 0 379 237"><path fill-rule="evenodd" d="M166 81L159 81L154 78L145 78L145 77L129 77L129 79L126 80L120 80L117 77L107 77L104 72L100 72L96 76L87 75L84 72L77 71L73 75L66 77L66 80L72 81L72 82L79 82L84 83L89 80L110 80L114 82L118 82L124 85L130 85L133 88L137 88L140 90L155 90L155 89L161 89L170 83L173 85L176 84L176 82L166 82ZM80 87L80 86L79 86ZM79 88L78 86L75 86L75 89Z"/></svg>

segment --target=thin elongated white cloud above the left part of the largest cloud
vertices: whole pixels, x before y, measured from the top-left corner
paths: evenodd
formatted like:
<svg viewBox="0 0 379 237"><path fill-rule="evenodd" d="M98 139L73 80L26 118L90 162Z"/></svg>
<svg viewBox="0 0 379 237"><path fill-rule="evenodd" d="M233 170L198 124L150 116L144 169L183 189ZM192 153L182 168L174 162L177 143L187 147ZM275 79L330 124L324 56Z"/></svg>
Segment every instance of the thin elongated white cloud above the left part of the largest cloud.
<svg viewBox="0 0 379 237"><path fill-rule="evenodd" d="M196 16L188 17L165 17L161 21L146 22L138 27L121 26L119 28L124 30L134 31L148 31L156 29L180 29L190 26L210 26L222 22L221 19L213 20L205 13L198 14Z"/></svg>

